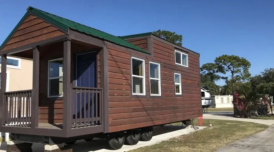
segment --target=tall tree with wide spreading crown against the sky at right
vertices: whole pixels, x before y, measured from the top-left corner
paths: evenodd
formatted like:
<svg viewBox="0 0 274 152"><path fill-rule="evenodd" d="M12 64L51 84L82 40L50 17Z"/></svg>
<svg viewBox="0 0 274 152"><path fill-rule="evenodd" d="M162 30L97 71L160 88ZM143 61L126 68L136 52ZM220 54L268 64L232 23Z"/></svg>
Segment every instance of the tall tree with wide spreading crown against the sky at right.
<svg viewBox="0 0 274 152"><path fill-rule="evenodd" d="M220 68L221 73L230 72L230 80L232 83L232 93L234 93L234 84L238 81L246 81L250 78L249 68L250 62L243 57L236 55L222 55L216 57L215 64Z"/></svg>

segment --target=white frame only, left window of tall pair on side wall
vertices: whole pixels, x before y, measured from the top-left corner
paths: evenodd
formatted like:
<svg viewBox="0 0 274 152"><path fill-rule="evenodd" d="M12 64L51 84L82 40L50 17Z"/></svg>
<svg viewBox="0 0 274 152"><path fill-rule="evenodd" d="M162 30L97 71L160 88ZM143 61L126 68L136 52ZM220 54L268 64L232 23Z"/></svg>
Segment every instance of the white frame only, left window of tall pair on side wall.
<svg viewBox="0 0 274 152"><path fill-rule="evenodd" d="M143 73L143 76L139 76L139 75L134 75L132 73L132 59L135 59L135 60L140 60L142 61L142 73ZM132 95L146 95L146 64L145 64L145 60L144 59L140 59L140 58L137 58L137 57L131 57L131 67L130 67L130 70L131 70L131 93ZM135 78L143 78L143 93L134 93L133 92L133 77Z"/></svg>

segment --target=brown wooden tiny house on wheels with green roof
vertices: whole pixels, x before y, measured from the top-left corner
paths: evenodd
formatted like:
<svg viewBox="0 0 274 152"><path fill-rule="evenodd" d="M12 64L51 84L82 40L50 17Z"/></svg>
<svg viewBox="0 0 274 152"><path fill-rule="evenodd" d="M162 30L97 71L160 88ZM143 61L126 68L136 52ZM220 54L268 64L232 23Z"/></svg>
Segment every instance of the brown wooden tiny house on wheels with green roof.
<svg viewBox="0 0 274 152"><path fill-rule="evenodd" d="M7 56L33 60L32 89L0 92L7 151L72 151L64 143L93 137L119 149L202 114L199 54L152 33L113 36L28 7L0 55L1 88Z"/></svg>

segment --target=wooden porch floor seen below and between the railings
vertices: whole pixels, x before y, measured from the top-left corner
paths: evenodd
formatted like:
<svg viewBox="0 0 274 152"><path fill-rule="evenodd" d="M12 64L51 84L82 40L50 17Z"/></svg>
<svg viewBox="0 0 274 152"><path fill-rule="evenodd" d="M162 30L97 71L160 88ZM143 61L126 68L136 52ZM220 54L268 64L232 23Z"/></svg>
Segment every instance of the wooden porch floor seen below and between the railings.
<svg viewBox="0 0 274 152"><path fill-rule="evenodd" d="M20 125L10 125L10 126L31 127L30 124L20 124ZM72 129L77 129L77 128L92 127L92 126L98 126L98 125L83 124L82 123L81 125L73 124L71 127L72 127ZM63 129L63 124L62 123L38 123L38 128L62 130Z"/></svg>

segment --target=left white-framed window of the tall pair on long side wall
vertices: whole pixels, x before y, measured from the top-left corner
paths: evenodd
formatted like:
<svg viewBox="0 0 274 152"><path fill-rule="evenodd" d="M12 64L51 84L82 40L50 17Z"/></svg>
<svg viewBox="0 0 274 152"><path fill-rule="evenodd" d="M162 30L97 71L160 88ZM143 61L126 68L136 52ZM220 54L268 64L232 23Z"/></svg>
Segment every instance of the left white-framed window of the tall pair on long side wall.
<svg viewBox="0 0 274 152"><path fill-rule="evenodd" d="M132 95L146 95L145 60L131 57Z"/></svg>

